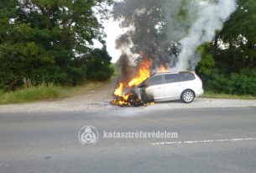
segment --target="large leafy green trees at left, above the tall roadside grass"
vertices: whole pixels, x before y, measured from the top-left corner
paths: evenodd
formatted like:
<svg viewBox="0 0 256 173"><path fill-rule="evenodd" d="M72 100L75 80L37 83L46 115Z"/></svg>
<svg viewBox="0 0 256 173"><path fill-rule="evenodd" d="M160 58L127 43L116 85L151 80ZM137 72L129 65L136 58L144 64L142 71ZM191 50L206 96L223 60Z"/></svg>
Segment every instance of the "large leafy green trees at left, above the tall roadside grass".
<svg viewBox="0 0 256 173"><path fill-rule="evenodd" d="M76 84L85 79L86 61L76 62L91 56L93 39L104 44L96 14L104 16L107 3L111 1L2 1L0 89L13 89L23 78L38 84Z"/></svg>

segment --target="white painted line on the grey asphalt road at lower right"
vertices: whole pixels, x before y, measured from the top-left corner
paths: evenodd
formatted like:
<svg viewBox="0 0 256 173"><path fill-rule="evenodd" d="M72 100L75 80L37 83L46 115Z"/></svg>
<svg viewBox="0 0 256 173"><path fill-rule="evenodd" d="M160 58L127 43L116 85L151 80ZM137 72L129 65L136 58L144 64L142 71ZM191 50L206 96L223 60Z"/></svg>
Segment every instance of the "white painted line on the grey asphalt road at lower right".
<svg viewBox="0 0 256 173"><path fill-rule="evenodd" d="M201 144L213 142L238 142L243 140L256 140L256 138L238 138L229 140L191 140L191 141L178 141L178 142L155 142L153 145L185 145L185 144Z"/></svg>

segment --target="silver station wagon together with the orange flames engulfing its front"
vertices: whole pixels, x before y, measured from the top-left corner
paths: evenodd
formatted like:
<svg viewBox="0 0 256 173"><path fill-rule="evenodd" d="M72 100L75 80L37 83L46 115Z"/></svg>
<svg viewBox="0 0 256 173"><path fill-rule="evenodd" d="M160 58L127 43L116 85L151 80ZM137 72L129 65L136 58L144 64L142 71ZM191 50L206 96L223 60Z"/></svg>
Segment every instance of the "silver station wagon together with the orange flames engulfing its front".
<svg viewBox="0 0 256 173"><path fill-rule="evenodd" d="M195 72L170 72L165 66L160 66L158 72L151 75L151 66L152 62L148 59L141 62L135 78L118 84L111 104L138 106L175 99L191 103L203 94L201 79Z"/></svg>

